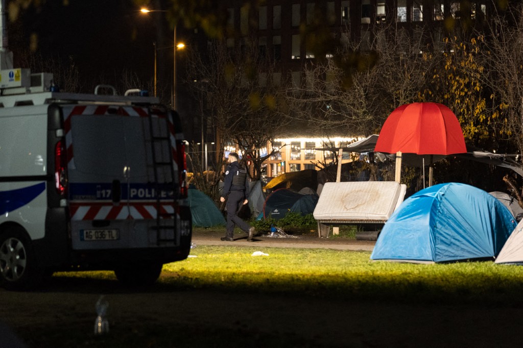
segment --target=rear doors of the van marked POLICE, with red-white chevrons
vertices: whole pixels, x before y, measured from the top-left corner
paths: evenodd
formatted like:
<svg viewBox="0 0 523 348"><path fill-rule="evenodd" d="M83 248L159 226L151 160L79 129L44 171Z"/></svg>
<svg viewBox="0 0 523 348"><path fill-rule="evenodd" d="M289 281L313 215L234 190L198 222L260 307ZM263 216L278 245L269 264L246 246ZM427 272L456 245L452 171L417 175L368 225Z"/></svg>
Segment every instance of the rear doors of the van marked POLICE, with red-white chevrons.
<svg viewBox="0 0 523 348"><path fill-rule="evenodd" d="M166 113L75 105L63 114L73 249L179 245Z"/></svg>

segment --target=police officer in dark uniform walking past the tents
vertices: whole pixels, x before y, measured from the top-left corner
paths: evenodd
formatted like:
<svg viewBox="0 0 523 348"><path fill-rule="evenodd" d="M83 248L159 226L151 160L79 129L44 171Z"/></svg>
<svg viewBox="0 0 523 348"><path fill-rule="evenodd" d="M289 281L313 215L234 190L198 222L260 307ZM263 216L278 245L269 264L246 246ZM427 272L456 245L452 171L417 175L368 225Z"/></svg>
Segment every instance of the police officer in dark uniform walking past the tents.
<svg viewBox="0 0 523 348"><path fill-rule="evenodd" d="M237 153L232 152L229 154L229 166L225 170L223 192L220 197L220 202L225 202L227 197L227 203L225 204L225 209L227 210L226 233L225 237L220 238L223 241L234 241L235 225L249 234L247 241L253 240L253 235L256 231L254 227L249 226L237 215L241 208L240 202L243 202L242 205L247 204L247 196L251 191L249 189L247 170L240 167L238 159Z"/></svg>

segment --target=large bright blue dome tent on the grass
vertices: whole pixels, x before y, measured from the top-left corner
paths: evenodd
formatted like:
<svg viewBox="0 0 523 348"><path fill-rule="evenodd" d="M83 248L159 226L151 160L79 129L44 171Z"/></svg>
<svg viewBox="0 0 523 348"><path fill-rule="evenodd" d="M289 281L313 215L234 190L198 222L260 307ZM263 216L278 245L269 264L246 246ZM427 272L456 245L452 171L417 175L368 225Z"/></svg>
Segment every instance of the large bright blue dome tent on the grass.
<svg viewBox="0 0 523 348"><path fill-rule="evenodd" d="M370 258L421 263L494 258L516 225L507 207L487 192L438 184L400 205Z"/></svg>

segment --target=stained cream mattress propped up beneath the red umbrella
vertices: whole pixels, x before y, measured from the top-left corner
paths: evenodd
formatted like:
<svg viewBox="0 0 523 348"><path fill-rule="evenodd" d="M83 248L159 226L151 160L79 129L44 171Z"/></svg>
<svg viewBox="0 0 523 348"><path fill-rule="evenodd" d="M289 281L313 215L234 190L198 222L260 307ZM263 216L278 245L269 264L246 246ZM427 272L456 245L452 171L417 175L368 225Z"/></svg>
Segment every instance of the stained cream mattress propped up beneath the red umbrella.
<svg viewBox="0 0 523 348"><path fill-rule="evenodd" d="M313 216L318 221L386 221L403 202L396 181L326 182Z"/></svg>

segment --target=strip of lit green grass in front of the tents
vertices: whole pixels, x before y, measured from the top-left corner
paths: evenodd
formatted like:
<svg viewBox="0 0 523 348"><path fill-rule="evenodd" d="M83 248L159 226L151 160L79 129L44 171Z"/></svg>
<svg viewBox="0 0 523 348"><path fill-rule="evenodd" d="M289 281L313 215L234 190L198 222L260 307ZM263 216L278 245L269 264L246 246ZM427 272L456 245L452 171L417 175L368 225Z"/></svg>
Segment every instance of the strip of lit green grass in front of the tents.
<svg viewBox="0 0 523 348"><path fill-rule="evenodd" d="M370 252L199 246L166 264L161 282L192 288L244 289L313 296L408 300L504 301L519 298L523 268L493 262L373 262Z"/></svg>

